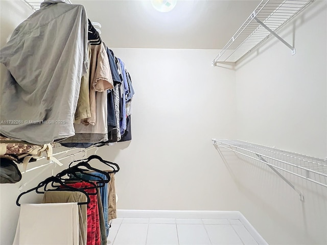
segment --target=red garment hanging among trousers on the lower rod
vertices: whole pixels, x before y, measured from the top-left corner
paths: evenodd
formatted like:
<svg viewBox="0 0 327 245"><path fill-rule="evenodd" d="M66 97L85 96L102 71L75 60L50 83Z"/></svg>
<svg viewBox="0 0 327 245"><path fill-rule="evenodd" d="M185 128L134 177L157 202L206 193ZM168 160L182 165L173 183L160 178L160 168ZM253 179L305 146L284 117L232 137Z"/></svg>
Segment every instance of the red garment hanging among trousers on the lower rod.
<svg viewBox="0 0 327 245"><path fill-rule="evenodd" d="M66 184L75 188L94 187L87 182ZM96 193L95 188L85 189L87 193ZM97 195L89 195L90 203L87 204L87 245L101 245L100 217Z"/></svg>

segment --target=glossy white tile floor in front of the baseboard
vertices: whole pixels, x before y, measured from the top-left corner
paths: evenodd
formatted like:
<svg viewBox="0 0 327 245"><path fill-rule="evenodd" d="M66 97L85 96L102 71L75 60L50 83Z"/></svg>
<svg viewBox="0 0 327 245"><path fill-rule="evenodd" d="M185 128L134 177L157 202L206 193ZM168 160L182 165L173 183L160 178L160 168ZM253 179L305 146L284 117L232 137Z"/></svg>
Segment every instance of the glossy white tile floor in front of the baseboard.
<svg viewBox="0 0 327 245"><path fill-rule="evenodd" d="M239 219L116 218L111 245L258 245Z"/></svg>

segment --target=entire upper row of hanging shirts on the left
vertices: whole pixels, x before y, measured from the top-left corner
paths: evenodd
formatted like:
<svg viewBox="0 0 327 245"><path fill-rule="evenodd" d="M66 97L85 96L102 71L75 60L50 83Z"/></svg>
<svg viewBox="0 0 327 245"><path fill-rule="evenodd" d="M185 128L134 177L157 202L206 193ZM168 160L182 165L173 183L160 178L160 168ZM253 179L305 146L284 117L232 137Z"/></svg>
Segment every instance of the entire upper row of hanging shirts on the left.
<svg viewBox="0 0 327 245"><path fill-rule="evenodd" d="M8 125L2 124L0 133L68 147L118 142L128 128L130 76L84 7L67 3L42 2L1 49L7 70L0 117Z"/></svg>

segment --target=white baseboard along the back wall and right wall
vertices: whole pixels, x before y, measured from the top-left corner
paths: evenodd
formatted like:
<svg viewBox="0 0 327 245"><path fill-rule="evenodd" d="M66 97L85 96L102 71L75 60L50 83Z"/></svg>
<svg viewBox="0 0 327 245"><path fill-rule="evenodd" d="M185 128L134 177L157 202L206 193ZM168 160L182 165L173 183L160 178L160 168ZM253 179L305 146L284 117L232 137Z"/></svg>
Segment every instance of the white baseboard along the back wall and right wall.
<svg viewBox="0 0 327 245"><path fill-rule="evenodd" d="M268 245L240 211L197 211L197 210L126 210L118 209L119 218L217 218L239 219L260 245Z"/></svg>

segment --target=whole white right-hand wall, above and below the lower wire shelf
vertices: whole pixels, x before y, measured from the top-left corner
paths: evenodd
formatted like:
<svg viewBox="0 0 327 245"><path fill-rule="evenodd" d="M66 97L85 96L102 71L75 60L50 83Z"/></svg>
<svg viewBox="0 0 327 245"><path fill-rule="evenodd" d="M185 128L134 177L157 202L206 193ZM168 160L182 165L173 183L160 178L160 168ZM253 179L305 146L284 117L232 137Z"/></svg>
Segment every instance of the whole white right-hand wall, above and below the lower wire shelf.
<svg viewBox="0 0 327 245"><path fill-rule="evenodd" d="M327 156L327 2L312 6L278 32L297 54L270 38L238 64L238 138L324 158ZM269 244L327 244L327 188L268 167L229 158L239 210Z"/></svg>

